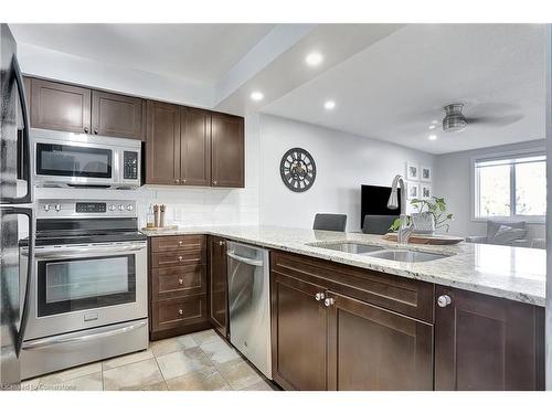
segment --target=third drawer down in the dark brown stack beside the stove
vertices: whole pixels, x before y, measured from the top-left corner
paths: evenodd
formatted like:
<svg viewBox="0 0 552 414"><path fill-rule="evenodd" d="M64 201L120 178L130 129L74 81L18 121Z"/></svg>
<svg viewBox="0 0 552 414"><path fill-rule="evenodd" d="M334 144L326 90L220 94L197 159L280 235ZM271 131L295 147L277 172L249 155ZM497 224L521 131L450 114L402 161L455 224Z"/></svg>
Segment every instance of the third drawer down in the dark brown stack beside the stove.
<svg viewBox="0 0 552 414"><path fill-rule="evenodd" d="M206 294L205 265L161 267L151 270L153 299Z"/></svg>

